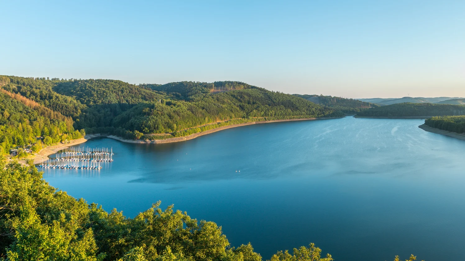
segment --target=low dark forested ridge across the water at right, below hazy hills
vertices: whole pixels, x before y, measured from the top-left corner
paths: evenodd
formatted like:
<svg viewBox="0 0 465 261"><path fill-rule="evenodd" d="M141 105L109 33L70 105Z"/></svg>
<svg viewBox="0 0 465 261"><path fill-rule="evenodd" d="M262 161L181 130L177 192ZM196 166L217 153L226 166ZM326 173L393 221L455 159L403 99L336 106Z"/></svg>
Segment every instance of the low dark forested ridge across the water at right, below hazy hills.
<svg viewBox="0 0 465 261"><path fill-rule="evenodd" d="M427 117L445 115L465 115L465 106L405 102L371 108L357 113L357 116L362 117Z"/></svg>

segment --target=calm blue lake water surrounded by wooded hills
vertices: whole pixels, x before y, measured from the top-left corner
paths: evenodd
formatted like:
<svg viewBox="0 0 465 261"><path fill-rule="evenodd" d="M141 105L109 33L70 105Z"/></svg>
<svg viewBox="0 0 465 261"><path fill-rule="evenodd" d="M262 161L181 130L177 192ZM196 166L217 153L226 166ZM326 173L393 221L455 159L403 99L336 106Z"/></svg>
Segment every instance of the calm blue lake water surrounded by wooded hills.
<svg viewBox="0 0 465 261"><path fill-rule="evenodd" d="M113 147L113 163L44 178L129 217L174 204L264 259L314 242L336 260L465 260L465 140L423 122L255 124L158 145L93 139L79 146Z"/></svg>

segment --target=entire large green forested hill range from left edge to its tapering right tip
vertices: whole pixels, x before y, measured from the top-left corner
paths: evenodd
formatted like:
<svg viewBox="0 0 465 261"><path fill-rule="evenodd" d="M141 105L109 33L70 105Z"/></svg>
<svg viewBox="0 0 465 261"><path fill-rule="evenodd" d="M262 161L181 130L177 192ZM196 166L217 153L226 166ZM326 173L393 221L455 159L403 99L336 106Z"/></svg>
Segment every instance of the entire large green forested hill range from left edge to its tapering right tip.
<svg viewBox="0 0 465 261"><path fill-rule="evenodd" d="M0 88L11 94L3 95L3 100L20 102L21 106L29 108L30 113L25 110L28 122L43 115L38 110L47 109L48 114L61 115L60 119L49 117L49 120L68 122L66 132L59 129L53 133L53 141L61 140L63 134L70 135L75 130L87 134L115 134L126 139L161 134L144 138L166 139L249 121L344 115L336 106L315 104L295 95L233 81L134 85L118 80L0 76ZM15 99L12 95L18 96ZM7 111L11 115L17 111L15 108L19 107L2 108L2 113ZM12 123L11 126L17 127L14 122L20 121L25 120L14 116L2 126ZM11 131L8 132L9 136L5 132L0 134L0 143L8 140L4 143L7 144L4 151L22 144L10 135ZM40 130L40 134L36 131L35 135L48 136L46 133ZM23 140L32 142L32 134L25 135Z"/></svg>

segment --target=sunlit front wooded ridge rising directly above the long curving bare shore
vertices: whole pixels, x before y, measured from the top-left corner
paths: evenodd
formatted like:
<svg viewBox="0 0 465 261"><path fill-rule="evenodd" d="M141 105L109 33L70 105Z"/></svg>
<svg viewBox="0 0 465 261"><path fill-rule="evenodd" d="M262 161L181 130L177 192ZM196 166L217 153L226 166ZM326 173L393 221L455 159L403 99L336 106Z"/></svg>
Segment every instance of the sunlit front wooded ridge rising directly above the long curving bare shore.
<svg viewBox="0 0 465 261"><path fill-rule="evenodd" d="M240 119L246 122L263 118L275 120L342 115L341 112L296 96L252 88L193 95L189 102L142 102L117 116L113 125L143 133L168 132L183 136L192 133L179 131L215 121Z"/></svg>

